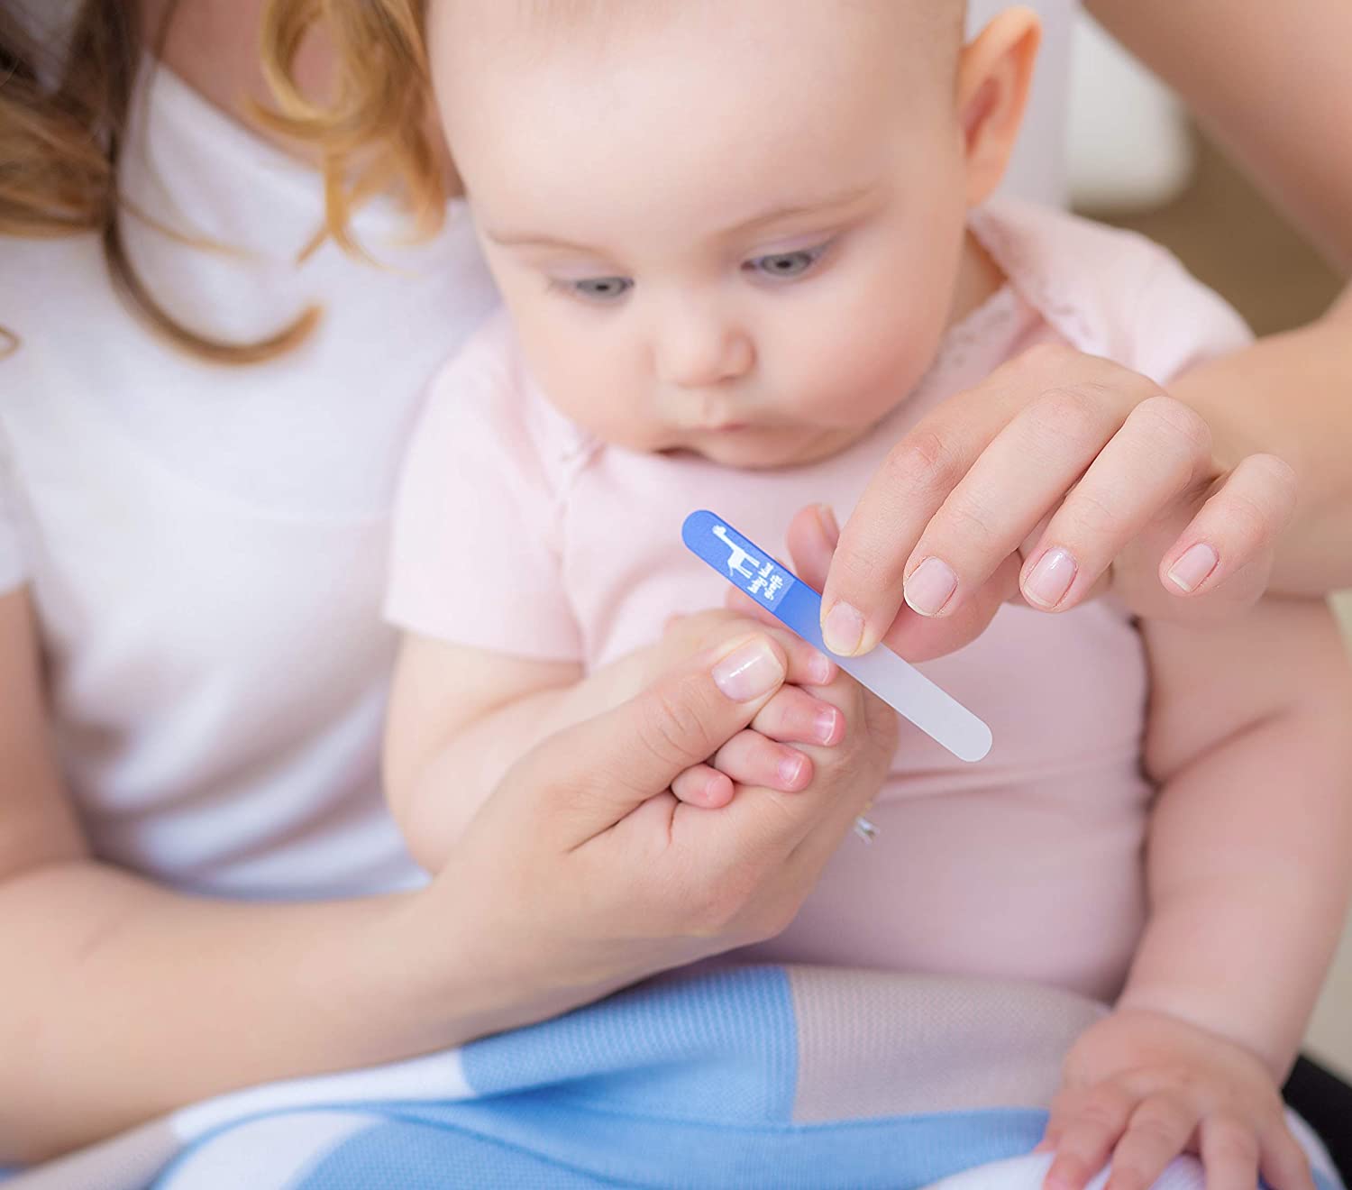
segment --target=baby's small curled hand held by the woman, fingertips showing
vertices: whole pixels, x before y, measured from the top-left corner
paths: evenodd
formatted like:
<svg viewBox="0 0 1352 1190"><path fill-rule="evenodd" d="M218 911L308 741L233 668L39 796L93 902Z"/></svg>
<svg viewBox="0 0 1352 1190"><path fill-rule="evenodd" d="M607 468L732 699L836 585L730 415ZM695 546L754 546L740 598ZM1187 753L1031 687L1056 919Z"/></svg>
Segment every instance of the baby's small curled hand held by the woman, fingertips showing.
<svg viewBox="0 0 1352 1190"><path fill-rule="evenodd" d="M726 610L676 617L668 623L662 642L652 656L652 667L665 671L729 637L752 630L775 637L788 657L788 675L779 694L745 732L729 740L704 764L687 768L672 782L672 792L694 806L726 806L738 784L786 794L804 790L813 780L813 761L791 745L829 748L845 737L844 714L813 692L841 680L840 669L825 654L781 627L765 626Z"/></svg>

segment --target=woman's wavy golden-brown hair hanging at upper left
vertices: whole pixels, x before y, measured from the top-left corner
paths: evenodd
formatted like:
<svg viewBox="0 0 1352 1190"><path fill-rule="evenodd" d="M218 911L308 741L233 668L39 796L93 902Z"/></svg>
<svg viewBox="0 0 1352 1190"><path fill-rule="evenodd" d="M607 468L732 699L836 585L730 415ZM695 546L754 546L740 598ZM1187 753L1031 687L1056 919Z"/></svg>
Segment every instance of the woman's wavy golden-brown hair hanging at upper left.
<svg viewBox="0 0 1352 1190"><path fill-rule="evenodd" d="M157 30L162 45L165 27ZM380 192L402 195L419 231L439 226L446 183L433 150L430 82L422 43L425 0L269 0L261 50L276 110L258 120L315 146L324 174L324 234L360 253L350 222ZM69 42L41 43L0 7L0 235L95 233L108 273L128 306L191 353L227 364L279 356L319 319L304 311L291 326L251 343L226 342L184 326L137 275L123 243L118 161L126 138L142 30L130 0L82 0ZM337 69L330 101L308 99L293 74L307 32L323 26ZM318 218L319 212L316 212ZM0 354L16 343L0 327Z"/></svg>

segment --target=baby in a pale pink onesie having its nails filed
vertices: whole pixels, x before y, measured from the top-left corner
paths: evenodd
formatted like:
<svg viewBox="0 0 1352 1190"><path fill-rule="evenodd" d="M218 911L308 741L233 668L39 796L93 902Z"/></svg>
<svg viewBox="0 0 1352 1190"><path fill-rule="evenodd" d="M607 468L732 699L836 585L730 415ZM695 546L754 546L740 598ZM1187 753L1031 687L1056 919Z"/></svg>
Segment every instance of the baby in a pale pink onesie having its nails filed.
<svg viewBox="0 0 1352 1190"><path fill-rule="evenodd" d="M399 503L391 805L435 870L496 779L746 622L680 545L849 510L938 402L1040 343L1157 383L1245 341L1161 250L990 201L1038 30L956 0L434 0L448 137L506 302L434 385ZM1083 407L1067 400L1067 433ZM1038 467L1030 452L1028 467ZM823 513L830 529L830 514ZM980 533L979 523L972 525ZM781 634L776 713L673 787L791 794L850 725ZM1225 627L1007 607L925 672L976 765L902 725L871 848L748 957L1021 978L1115 1005L1048 1143L1079 1186L1184 1148L1302 1186L1278 1086L1347 899L1347 680L1321 606ZM802 745L802 748L795 746Z"/></svg>

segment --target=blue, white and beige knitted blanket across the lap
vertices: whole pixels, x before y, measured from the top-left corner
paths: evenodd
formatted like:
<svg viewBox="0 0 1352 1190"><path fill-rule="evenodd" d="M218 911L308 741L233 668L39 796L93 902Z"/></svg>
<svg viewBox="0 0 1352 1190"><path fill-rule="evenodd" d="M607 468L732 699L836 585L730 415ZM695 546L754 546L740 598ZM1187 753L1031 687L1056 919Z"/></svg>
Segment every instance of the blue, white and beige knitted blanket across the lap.
<svg viewBox="0 0 1352 1190"><path fill-rule="evenodd" d="M1018 983L714 967L443 1053L223 1095L5 1190L1034 1190L1061 1057L1102 1012ZM1199 1168L1175 1162L1159 1185L1201 1187Z"/></svg>

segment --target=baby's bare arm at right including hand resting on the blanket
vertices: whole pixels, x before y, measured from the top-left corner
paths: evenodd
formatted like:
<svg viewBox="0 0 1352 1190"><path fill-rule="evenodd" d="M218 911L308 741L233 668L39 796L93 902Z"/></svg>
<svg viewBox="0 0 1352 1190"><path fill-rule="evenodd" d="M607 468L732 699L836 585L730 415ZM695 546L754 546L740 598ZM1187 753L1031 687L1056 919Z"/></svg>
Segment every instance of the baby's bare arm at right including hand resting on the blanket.
<svg viewBox="0 0 1352 1190"><path fill-rule="evenodd" d="M1215 1185L1252 1186L1260 1159L1272 1185L1309 1185L1278 1087L1352 878L1343 645L1314 602L1144 632L1149 920L1117 1010L1067 1060L1049 1183L1082 1186L1111 1152L1114 1190L1144 1190L1191 1148Z"/></svg>

